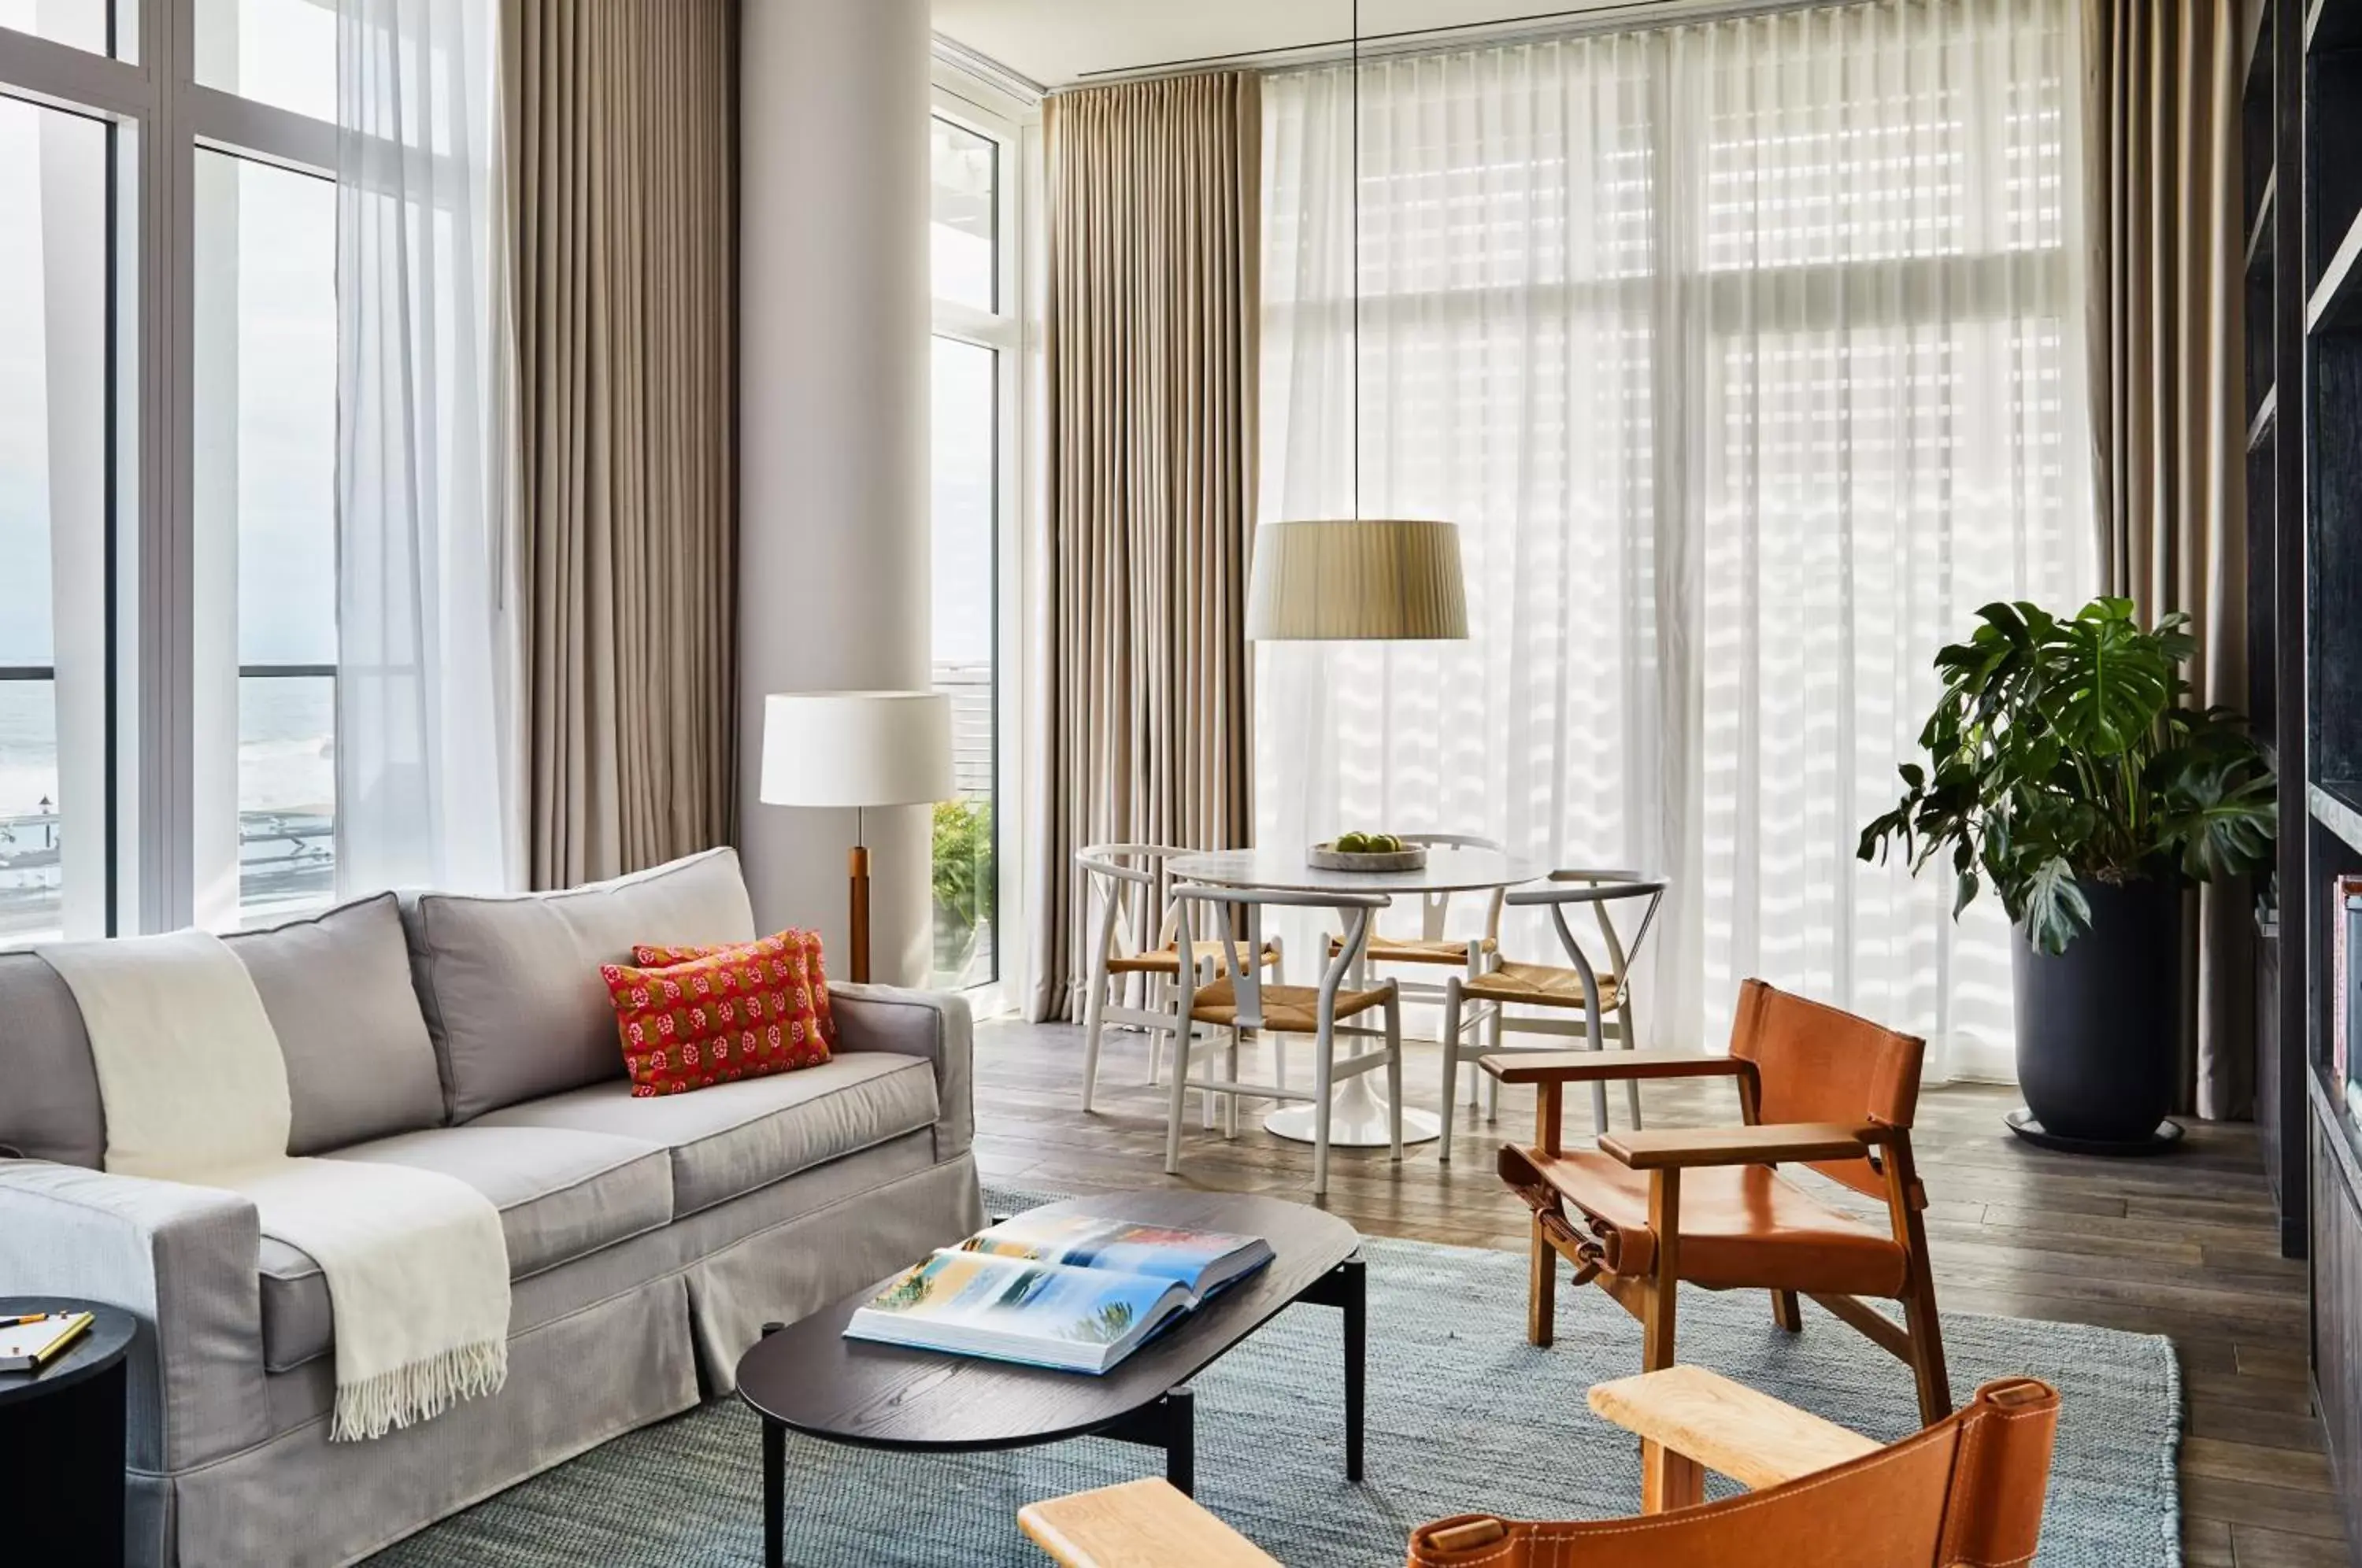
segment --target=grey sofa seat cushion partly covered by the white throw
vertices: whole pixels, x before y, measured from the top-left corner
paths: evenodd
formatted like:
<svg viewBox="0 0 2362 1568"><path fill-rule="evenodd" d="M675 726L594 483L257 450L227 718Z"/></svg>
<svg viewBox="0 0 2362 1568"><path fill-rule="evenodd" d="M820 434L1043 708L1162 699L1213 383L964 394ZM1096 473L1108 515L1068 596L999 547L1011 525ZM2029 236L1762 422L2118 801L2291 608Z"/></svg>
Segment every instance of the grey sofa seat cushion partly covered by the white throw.
<svg viewBox="0 0 2362 1568"><path fill-rule="evenodd" d="M338 1150L456 1176L501 1211L508 1275L524 1280L664 1228L673 1171L664 1148L546 1126L439 1126ZM298 1247L262 1237L262 1360L300 1367L335 1341L328 1280Z"/></svg>

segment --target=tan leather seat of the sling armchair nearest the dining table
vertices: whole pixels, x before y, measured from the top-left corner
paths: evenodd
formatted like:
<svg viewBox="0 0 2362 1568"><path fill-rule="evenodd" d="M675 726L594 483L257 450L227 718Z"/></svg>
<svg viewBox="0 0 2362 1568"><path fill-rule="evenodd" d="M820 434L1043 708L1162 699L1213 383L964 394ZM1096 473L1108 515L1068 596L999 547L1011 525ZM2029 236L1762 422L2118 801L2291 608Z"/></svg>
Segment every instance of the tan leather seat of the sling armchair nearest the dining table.
<svg viewBox="0 0 2362 1568"><path fill-rule="evenodd" d="M1502 1148L1500 1174L1512 1185L1547 1183L1580 1209L1609 1273L1646 1275L1656 1263L1646 1171L1599 1150ZM1682 1171L1679 1226L1682 1278L1708 1289L1904 1289L1908 1259L1887 1230L1831 1209L1767 1164Z"/></svg>

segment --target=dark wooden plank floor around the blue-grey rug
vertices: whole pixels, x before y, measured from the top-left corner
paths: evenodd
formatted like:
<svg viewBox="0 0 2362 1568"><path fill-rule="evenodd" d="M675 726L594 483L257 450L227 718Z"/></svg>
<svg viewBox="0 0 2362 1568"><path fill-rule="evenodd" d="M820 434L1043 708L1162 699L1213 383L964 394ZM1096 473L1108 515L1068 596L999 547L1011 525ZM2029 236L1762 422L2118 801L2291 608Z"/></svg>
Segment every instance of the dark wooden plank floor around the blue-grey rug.
<svg viewBox="0 0 2362 1568"><path fill-rule="evenodd" d="M1297 1044L1294 1065L1306 1063ZM1438 1100L1436 1046L1412 1041L1410 1100ZM976 1041L976 1150L985 1181L1063 1193L1200 1185L1311 1197L1311 1150L1240 1115L1235 1143L1198 1126L1164 1176L1164 1096L1143 1084L1138 1034L1110 1034L1098 1108L1077 1100L1082 1037L985 1023ZM1252 1072L1247 1074L1252 1077ZM2045 1155L2012 1138L2003 1089L1932 1089L1916 1150L1944 1308L2171 1334L2182 1363L2182 1540L2192 1568L2348 1563L2319 1422L2305 1391L2305 1268L2279 1256L2253 1126L2194 1122L2164 1159ZM1254 1105L1257 1117L1261 1105ZM1738 1119L1727 1084L1651 1084L1656 1126ZM1620 1112L1616 1112L1620 1117ZM1436 1145L1332 1155L1327 1207L1375 1235L1523 1249L1523 1207L1490 1171L1462 1110L1450 1167ZM1500 1129L1533 1124L1531 1093ZM1587 1129L1568 1100L1568 1129ZM1462 1152L1464 1150L1464 1152Z"/></svg>

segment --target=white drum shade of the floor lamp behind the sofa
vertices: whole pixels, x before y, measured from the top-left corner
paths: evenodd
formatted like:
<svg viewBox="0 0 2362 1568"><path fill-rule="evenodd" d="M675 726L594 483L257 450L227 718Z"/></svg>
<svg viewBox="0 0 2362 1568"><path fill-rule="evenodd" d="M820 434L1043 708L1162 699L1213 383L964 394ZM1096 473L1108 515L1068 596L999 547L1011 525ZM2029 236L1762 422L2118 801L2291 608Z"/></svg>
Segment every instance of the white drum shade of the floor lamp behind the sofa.
<svg viewBox="0 0 2362 1568"><path fill-rule="evenodd" d="M950 801L952 699L940 692L772 692L763 699L770 805Z"/></svg>

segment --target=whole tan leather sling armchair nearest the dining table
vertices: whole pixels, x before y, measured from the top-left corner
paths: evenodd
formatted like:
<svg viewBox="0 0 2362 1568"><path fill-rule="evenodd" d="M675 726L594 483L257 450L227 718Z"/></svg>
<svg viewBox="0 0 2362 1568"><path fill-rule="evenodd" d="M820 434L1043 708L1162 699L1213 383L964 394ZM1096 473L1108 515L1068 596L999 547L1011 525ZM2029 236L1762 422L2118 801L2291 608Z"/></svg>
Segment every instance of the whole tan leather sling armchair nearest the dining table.
<svg viewBox="0 0 2362 1568"><path fill-rule="evenodd" d="M1942 1422L1951 1381L1920 1221L1927 1193L1911 1164L1923 1051L1911 1034L1748 980L1729 1056L1486 1056L1502 1084L1535 1086L1535 1143L1500 1150L1500 1178L1533 1209L1526 1337L1552 1339L1561 1256L1575 1285L1597 1280L1639 1318L1644 1372L1672 1365L1677 1282L1769 1289L1772 1318L1790 1334L1805 1327L1797 1294L1807 1294L1901 1358L1920 1422ZM1609 1133L1597 1150L1561 1143L1568 1084L1670 1077L1736 1079L1746 1126ZM1885 1200L1887 1223L1833 1209L1779 1162ZM1861 1296L1899 1299L1901 1327Z"/></svg>

